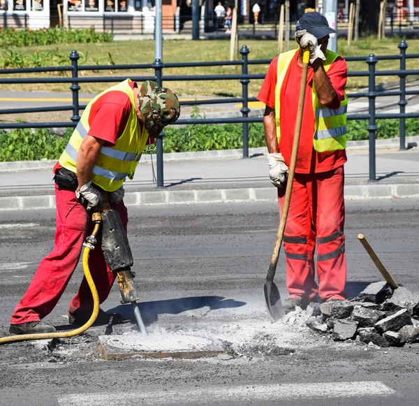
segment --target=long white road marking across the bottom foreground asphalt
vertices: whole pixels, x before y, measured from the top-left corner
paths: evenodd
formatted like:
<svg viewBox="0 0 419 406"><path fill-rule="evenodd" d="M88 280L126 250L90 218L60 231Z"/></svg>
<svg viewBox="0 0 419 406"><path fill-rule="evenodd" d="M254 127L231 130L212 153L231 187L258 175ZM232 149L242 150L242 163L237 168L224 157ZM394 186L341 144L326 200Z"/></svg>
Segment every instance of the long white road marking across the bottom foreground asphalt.
<svg viewBox="0 0 419 406"><path fill-rule="evenodd" d="M85 393L61 396L59 405L204 405L205 403L244 403L279 399L351 398L390 396L396 391L381 382L319 382L316 384L239 385L223 388L193 388L179 391L141 391L136 393Z"/></svg>

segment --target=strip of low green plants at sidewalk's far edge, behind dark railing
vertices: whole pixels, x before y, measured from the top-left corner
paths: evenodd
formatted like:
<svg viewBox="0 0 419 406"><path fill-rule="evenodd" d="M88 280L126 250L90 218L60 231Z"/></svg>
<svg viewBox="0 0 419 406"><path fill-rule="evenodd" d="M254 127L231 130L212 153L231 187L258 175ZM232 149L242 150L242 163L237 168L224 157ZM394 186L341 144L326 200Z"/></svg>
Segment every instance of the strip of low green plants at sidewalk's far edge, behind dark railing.
<svg viewBox="0 0 419 406"><path fill-rule="evenodd" d="M202 117L199 114L194 117ZM367 120L348 122L348 140L367 140ZM399 136L399 120L377 121L377 138ZM64 136L55 136L49 129L17 129L0 131L0 161L31 161L58 159L67 145L73 129ZM242 124L193 124L184 127L171 126L165 129L164 152L193 152L232 150L242 148ZM419 134L419 120L406 119L406 136ZM249 147L265 147L262 123L249 124Z"/></svg>

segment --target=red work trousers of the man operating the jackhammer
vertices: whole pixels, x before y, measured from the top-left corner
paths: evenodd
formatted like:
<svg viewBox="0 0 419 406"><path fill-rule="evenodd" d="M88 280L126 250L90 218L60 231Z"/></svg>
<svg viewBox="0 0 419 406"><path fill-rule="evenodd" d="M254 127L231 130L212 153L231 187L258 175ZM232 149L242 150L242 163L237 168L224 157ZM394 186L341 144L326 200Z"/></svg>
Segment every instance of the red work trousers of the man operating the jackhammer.
<svg viewBox="0 0 419 406"><path fill-rule="evenodd" d="M78 202L75 191L55 185L55 198L57 229L54 249L38 266L29 288L15 308L11 324L39 321L52 312L78 264L84 239L93 230L90 215ZM112 205L112 209L119 212L126 229L128 216L124 203ZM103 303L108 298L115 274L108 268L99 245L90 252L89 268L100 302ZM73 314L79 309L86 316L93 310L93 299L84 277L78 293L71 301L69 312Z"/></svg>

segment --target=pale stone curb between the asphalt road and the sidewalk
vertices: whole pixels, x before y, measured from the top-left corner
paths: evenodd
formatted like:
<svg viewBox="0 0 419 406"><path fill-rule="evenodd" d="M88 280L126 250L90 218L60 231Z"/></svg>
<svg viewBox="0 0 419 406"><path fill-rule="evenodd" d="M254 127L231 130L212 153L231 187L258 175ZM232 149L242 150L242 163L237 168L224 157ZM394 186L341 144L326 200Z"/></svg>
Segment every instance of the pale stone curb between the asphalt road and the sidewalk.
<svg viewBox="0 0 419 406"><path fill-rule="evenodd" d="M346 200L378 198L419 198L419 184L360 184L347 185ZM275 201L274 187L205 190L161 190L127 192L124 202L133 205L165 205L196 203L243 203ZM0 197L0 210L29 210L55 208L55 197L9 196Z"/></svg>

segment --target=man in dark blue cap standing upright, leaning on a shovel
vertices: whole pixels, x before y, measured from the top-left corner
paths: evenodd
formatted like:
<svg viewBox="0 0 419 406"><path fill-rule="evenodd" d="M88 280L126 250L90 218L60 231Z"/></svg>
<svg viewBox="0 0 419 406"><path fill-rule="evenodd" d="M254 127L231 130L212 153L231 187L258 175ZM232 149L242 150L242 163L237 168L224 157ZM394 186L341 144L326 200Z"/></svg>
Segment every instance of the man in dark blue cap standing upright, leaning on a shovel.
<svg viewBox="0 0 419 406"><path fill-rule="evenodd" d="M327 50L336 31L319 13L306 13L297 22L300 45L274 58L258 94L265 103L265 138L270 178L284 205L286 177L297 117L302 75L302 49L310 63L304 99L300 147L293 193L284 232L286 285L284 310L346 298L344 164L346 163L346 61ZM314 251L317 247L315 281Z"/></svg>

